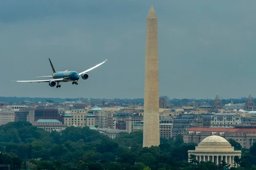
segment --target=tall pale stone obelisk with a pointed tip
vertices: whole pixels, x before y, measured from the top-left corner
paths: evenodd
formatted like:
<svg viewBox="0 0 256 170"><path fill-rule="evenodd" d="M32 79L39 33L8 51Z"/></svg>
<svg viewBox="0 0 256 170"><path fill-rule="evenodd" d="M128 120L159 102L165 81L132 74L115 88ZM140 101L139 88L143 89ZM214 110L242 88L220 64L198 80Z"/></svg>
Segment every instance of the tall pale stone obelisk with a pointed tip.
<svg viewBox="0 0 256 170"><path fill-rule="evenodd" d="M143 147L160 144L157 34L157 16L151 5L146 28Z"/></svg>

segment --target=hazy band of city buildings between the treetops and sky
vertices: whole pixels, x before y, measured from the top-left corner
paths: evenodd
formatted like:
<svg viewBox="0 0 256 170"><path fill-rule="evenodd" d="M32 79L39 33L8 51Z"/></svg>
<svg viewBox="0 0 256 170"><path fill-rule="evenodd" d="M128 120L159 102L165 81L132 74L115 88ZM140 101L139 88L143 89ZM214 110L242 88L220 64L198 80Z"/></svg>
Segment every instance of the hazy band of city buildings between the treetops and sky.
<svg viewBox="0 0 256 170"><path fill-rule="evenodd" d="M11 97L3 99L14 100ZM70 127L89 128L113 140L119 140L123 133L143 131L143 99L55 99L62 102L54 101L54 98L22 99L0 103L2 127L12 122L29 122L50 133L62 133ZM182 137L185 143L199 145L205 138L217 135L233 142L235 148L249 150L256 140L255 100L251 95L241 99L220 99L217 94L214 99L201 100L159 97L159 139L175 141ZM238 166L234 157L223 158L228 164ZM207 156L199 159L213 160ZM217 162L217 158L214 159ZM36 165L26 162L24 166L33 168Z"/></svg>

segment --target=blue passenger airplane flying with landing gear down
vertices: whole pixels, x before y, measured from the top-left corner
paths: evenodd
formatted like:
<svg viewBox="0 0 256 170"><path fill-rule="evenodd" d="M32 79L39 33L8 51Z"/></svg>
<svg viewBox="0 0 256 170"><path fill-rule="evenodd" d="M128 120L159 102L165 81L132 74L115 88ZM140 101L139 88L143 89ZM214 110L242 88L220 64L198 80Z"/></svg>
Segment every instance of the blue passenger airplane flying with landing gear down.
<svg viewBox="0 0 256 170"><path fill-rule="evenodd" d="M57 88L60 88L60 82L72 82L72 84L78 84L77 81L79 80L79 77L81 75L82 79L87 80L89 78L89 75L87 72L95 69L96 67L100 66L101 64L105 63L107 60L103 61L100 64L95 65L94 67L91 67L91 69L87 69L81 73L77 73L76 71L55 71L53 64L49 58L51 67L52 67L52 75L45 75L45 76L39 76L37 78L52 78L49 80L28 80L28 81L16 81L16 82L30 82L30 83L41 83L41 82L48 82L50 87L55 87L57 84Z"/></svg>

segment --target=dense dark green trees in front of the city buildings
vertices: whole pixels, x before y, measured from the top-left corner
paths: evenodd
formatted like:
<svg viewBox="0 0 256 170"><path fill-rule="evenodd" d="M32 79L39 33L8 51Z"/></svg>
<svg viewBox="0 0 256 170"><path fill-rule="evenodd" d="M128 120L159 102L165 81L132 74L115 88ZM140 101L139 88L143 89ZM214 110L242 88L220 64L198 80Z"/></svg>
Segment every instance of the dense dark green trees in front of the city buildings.
<svg viewBox="0 0 256 170"><path fill-rule="evenodd" d="M141 131L119 133L116 139L88 127L68 127L61 133L46 132L28 122L12 122L0 127L0 164L12 169L25 167L25 162L36 164L33 169L223 169L225 162L216 166L211 162L197 162L188 150L196 143L184 143L182 135L176 140L161 139L159 147L142 148ZM241 146L229 140L235 149ZM241 159L234 159L238 168L255 169L256 145L243 149Z"/></svg>

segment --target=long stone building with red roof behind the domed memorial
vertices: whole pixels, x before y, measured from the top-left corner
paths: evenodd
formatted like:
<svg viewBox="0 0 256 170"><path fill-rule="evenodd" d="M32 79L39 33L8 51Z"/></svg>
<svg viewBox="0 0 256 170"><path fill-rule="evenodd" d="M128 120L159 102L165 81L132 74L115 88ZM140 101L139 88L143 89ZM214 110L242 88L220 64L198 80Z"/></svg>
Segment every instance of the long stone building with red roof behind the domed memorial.
<svg viewBox="0 0 256 170"><path fill-rule="evenodd" d="M240 143L243 148L249 149L252 143L256 142L255 126L234 127L234 128L190 128L183 135L184 142L200 143L204 138L210 135L219 135L226 140L234 139Z"/></svg>

